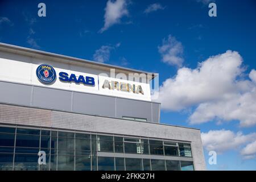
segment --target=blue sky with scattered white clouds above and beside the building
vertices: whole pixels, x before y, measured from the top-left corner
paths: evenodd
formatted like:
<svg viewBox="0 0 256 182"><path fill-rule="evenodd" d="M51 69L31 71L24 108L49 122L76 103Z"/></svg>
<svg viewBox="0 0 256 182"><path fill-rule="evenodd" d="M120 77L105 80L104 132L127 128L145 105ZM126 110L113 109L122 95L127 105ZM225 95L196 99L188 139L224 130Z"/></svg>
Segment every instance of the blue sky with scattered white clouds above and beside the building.
<svg viewBox="0 0 256 182"><path fill-rule="evenodd" d="M40 2L46 4L46 17L38 16ZM160 101L166 101L161 122L201 129L207 169L255 170L255 1L216 0L217 17L208 16L209 0L107 2L2 0L0 42L159 73L160 85L169 79L160 89ZM207 61L210 56L215 57ZM204 72L212 65L221 65L223 77L218 69L211 76ZM173 98L166 96L176 94L172 88L185 88L177 76L186 70L195 78L192 92L197 91L175 97L177 105L171 105ZM212 94L200 89L208 78ZM225 142L230 146L221 145ZM209 150L218 153L216 165L208 164Z"/></svg>

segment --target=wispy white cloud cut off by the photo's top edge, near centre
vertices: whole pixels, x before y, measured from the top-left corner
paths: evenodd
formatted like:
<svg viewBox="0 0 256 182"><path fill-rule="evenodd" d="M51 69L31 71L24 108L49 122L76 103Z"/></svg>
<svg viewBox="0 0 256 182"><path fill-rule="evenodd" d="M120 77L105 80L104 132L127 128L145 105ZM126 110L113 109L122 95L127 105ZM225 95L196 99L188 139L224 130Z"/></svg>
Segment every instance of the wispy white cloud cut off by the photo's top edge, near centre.
<svg viewBox="0 0 256 182"><path fill-rule="evenodd" d="M106 3L105 15L104 15L104 27L101 28L100 32L104 32L113 24L119 23L123 16L127 16L129 11L127 10L126 0L109 0Z"/></svg>

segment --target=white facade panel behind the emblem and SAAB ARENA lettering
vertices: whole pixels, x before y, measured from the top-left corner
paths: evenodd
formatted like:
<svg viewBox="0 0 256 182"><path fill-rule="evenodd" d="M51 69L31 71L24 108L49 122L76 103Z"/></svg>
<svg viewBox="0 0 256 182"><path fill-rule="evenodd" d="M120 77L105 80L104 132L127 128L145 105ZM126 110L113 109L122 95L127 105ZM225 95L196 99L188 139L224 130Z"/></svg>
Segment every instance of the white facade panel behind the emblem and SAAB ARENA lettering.
<svg viewBox="0 0 256 182"><path fill-rule="evenodd" d="M36 68L41 64L49 64L56 71L56 80L51 84L43 84L38 80L36 76ZM0 80L19 82L22 84L32 84L38 86L47 86L49 88L72 90L77 92L102 94L106 96L131 98L136 100L151 101L150 96L150 84L142 83L137 81L121 80L118 78L110 78L100 76L110 75L107 71L96 70L93 68L85 67L83 64L67 64L61 61L52 61L49 59L38 59L35 57L28 57L23 55L15 55L13 53L0 52ZM77 84L75 82L63 82L59 80L59 73L65 72L70 76L72 73L78 78L80 75L86 77L93 77L95 85ZM143 90L143 94L133 92L123 92L118 90L103 89L102 84L104 80L125 82L131 85L140 85ZM100 85L98 85L100 83Z"/></svg>

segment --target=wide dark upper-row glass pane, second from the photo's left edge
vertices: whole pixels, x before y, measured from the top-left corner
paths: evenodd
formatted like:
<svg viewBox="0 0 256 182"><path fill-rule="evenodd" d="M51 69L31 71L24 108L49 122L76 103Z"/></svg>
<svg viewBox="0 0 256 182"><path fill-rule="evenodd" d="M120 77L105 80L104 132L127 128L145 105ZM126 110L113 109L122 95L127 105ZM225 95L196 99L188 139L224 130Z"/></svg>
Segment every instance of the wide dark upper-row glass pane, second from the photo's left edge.
<svg viewBox="0 0 256 182"><path fill-rule="evenodd" d="M39 135L16 135L16 147L39 147L39 141Z"/></svg>

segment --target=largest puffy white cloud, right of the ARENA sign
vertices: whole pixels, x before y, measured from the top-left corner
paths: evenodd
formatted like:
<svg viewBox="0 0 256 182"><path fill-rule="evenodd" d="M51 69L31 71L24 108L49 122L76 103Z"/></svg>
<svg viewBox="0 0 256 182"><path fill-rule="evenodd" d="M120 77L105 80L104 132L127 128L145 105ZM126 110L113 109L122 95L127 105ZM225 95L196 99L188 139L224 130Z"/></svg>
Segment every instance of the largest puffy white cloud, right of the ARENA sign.
<svg viewBox="0 0 256 182"><path fill-rule="evenodd" d="M255 71L249 79L242 77L242 57L226 51L199 63L196 69L180 68L159 88L159 99L165 110L179 111L196 106L189 117L191 124L216 120L240 121L240 126L256 125Z"/></svg>

